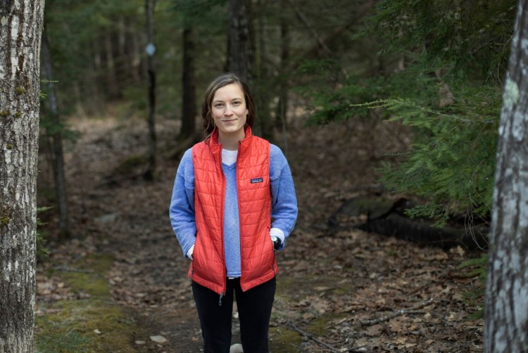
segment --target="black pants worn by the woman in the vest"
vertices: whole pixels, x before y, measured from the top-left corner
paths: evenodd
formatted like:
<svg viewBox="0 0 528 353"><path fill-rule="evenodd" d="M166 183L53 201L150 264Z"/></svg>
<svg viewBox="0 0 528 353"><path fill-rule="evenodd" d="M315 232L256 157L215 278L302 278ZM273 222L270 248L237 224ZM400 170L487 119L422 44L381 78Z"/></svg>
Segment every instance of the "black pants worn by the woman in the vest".
<svg viewBox="0 0 528 353"><path fill-rule="evenodd" d="M233 295L236 295L244 353L268 353L268 327L276 286L277 282L272 278L243 292L240 278L228 279L222 305L219 305L218 293L193 282L192 292L203 335L203 352L230 351Z"/></svg>

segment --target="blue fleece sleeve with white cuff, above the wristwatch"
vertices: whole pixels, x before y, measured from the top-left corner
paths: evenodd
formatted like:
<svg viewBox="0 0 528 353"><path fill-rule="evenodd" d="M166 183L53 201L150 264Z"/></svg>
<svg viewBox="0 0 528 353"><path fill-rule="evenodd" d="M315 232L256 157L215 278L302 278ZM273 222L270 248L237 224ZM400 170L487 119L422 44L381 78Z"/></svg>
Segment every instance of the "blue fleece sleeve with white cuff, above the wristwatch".
<svg viewBox="0 0 528 353"><path fill-rule="evenodd" d="M272 229L271 236L282 240L284 248L286 238L294 230L297 220L297 197L294 179L282 150L271 145L270 150L270 184L272 194Z"/></svg>

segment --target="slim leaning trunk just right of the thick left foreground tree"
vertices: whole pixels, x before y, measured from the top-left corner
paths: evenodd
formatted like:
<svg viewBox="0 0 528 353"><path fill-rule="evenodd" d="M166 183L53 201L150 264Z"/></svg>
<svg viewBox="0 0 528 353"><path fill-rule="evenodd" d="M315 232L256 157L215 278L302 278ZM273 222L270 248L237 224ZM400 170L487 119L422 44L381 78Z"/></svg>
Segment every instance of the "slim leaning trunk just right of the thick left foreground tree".
<svg viewBox="0 0 528 353"><path fill-rule="evenodd" d="M49 117L51 123L54 125L53 133L51 134L51 145L53 146L53 166L54 166L54 181L55 192L58 203L58 229L59 238L65 240L70 236L69 222L68 222L68 198L66 197L66 179L64 177L64 153L63 153L63 137L61 131L61 119L58 116L57 94L54 84L53 70L51 68L51 54L49 52L49 42L46 34L42 34L42 61L44 62L44 77L47 80L47 101L49 105Z"/></svg>

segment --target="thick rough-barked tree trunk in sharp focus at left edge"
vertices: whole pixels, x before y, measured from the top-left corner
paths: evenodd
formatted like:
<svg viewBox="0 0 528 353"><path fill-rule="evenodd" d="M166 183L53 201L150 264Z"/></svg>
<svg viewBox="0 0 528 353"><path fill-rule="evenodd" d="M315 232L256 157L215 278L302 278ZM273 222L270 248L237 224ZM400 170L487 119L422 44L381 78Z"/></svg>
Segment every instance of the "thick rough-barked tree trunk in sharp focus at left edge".
<svg viewBox="0 0 528 353"><path fill-rule="evenodd" d="M0 352L33 352L44 0L0 2Z"/></svg>

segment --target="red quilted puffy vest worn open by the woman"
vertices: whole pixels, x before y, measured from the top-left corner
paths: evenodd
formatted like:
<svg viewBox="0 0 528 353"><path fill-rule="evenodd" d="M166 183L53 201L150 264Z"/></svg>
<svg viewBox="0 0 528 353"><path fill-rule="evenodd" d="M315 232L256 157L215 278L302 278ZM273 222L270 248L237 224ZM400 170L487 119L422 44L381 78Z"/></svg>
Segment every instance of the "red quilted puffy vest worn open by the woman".
<svg viewBox="0 0 528 353"><path fill-rule="evenodd" d="M218 130L192 148L196 243L189 269L192 281L225 293L224 254L225 177ZM240 219L242 290L265 283L278 272L270 239L270 143L251 135L239 141L237 193Z"/></svg>

